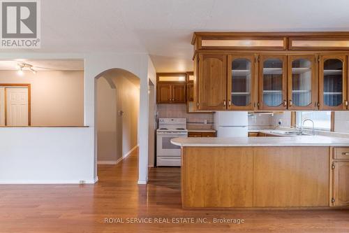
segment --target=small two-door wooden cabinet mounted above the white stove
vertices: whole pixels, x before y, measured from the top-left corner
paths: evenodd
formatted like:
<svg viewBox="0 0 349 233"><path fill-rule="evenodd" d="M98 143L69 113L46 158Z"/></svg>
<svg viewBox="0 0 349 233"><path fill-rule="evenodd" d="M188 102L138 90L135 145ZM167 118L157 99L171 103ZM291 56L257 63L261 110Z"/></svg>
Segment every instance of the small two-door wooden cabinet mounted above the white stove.
<svg viewBox="0 0 349 233"><path fill-rule="evenodd" d="M185 83L158 83L156 93L157 104L185 104Z"/></svg>

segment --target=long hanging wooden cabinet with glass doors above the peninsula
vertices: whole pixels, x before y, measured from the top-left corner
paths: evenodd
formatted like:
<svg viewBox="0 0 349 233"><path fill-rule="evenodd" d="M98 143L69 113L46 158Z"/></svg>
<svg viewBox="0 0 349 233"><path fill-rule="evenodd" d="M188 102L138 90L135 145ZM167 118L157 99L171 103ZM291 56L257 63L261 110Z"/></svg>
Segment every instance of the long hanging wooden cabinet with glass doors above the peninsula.
<svg viewBox="0 0 349 233"><path fill-rule="evenodd" d="M205 31L192 44L195 108L349 110L349 32Z"/></svg>

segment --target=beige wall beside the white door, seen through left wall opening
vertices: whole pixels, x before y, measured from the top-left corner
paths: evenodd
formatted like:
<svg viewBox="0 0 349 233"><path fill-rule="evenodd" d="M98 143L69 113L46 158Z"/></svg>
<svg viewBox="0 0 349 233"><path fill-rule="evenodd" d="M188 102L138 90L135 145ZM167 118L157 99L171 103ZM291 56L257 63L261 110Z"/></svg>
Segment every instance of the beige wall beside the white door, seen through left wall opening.
<svg viewBox="0 0 349 233"><path fill-rule="evenodd" d="M31 84L31 125L84 125L84 71L0 71L0 83Z"/></svg>

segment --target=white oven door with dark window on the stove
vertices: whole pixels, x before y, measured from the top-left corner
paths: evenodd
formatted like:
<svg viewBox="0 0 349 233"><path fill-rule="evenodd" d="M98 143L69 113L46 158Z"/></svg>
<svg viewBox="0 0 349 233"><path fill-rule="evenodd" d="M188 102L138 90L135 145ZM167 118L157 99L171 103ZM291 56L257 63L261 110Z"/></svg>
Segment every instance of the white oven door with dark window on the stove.
<svg viewBox="0 0 349 233"><path fill-rule="evenodd" d="M186 137L186 133L166 133L158 132L156 136L157 156L181 156L181 147L173 145L171 139Z"/></svg>

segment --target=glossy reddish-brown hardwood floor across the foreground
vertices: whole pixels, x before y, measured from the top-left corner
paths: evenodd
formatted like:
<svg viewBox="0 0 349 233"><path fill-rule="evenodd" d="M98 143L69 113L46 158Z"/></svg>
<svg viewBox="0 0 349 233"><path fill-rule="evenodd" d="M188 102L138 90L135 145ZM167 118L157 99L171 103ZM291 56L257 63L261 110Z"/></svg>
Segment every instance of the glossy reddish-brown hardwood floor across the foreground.
<svg viewBox="0 0 349 233"><path fill-rule="evenodd" d="M137 185L137 152L98 166L96 185L0 185L4 232L349 232L348 210L207 211L181 209L179 168L150 169ZM105 218L207 218L211 223L104 223ZM212 223L242 218L244 224Z"/></svg>

